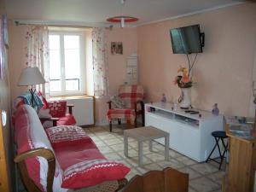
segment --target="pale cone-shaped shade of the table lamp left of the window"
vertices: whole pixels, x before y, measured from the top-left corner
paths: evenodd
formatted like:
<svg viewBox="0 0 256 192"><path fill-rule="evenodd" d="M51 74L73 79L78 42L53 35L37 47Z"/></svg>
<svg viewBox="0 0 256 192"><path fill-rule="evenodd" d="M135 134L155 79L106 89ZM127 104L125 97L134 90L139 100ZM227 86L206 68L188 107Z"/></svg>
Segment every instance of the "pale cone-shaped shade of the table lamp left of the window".
<svg viewBox="0 0 256 192"><path fill-rule="evenodd" d="M44 84L46 83L42 73L40 73L38 67L27 67L24 68L20 74L18 81L19 86L33 85L33 84Z"/></svg>

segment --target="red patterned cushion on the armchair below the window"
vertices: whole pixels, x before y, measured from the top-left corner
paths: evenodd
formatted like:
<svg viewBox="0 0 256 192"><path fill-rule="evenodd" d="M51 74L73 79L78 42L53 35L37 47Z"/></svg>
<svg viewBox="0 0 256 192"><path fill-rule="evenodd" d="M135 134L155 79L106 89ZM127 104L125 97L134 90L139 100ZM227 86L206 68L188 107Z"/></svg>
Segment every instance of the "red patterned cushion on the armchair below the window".
<svg viewBox="0 0 256 192"><path fill-rule="evenodd" d="M64 117L66 115L67 102L54 101L48 102L49 113L54 118Z"/></svg>

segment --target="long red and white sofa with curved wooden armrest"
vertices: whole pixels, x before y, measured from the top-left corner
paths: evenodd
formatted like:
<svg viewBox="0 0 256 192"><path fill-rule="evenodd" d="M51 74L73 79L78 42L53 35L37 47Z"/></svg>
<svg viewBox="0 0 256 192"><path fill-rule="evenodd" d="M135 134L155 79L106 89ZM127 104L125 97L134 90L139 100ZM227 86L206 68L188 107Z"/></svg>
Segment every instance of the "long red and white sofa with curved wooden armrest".
<svg viewBox="0 0 256 192"><path fill-rule="evenodd" d="M117 189L117 181L130 172L127 166L107 160L78 126L61 125L44 131L38 114L28 105L20 106L15 113L15 143L18 154L15 162L19 165L21 177L25 177L23 181L28 191L52 189L66 192L81 188L101 188L99 186L106 183L115 185ZM38 155L40 149L38 152L37 148L44 151ZM32 158L26 159L26 156ZM53 160L55 164L49 164ZM22 164L26 166L25 173ZM48 168L52 165L55 165L54 177L50 178ZM26 182L26 177L30 182ZM115 189L110 188L112 191Z"/></svg>

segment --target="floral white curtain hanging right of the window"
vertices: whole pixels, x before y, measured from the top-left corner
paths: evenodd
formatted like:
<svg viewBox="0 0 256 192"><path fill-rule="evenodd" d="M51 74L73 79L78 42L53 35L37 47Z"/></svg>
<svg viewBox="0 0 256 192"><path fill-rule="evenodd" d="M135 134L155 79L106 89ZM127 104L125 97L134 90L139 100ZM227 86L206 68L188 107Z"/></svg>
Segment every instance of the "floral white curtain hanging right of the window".
<svg viewBox="0 0 256 192"><path fill-rule="evenodd" d="M107 45L105 43L105 29L92 29L92 62L94 95L108 96L108 66Z"/></svg>

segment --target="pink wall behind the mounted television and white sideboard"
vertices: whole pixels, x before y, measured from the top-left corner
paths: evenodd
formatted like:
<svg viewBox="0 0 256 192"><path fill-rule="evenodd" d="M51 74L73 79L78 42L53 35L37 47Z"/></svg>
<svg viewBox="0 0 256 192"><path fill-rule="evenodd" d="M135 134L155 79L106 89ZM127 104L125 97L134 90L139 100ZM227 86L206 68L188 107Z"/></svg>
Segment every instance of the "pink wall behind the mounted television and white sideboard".
<svg viewBox="0 0 256 192"><path fill-rule="evenodd" d="M172 54L169 30L200 24L201 32L206 33L206 46L193 68L198 82L192 88L193 106L211 110L217 102L221 113L249 115L249 104L253 104L249 102L255 10L255 3L247 3L137 27L139 79L146 88L148 101L160 101L162 93L166 93L168 101L177 100L180 90L173 79L180 65L187 67L187 60L185 55Z"/></svg>

